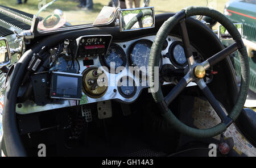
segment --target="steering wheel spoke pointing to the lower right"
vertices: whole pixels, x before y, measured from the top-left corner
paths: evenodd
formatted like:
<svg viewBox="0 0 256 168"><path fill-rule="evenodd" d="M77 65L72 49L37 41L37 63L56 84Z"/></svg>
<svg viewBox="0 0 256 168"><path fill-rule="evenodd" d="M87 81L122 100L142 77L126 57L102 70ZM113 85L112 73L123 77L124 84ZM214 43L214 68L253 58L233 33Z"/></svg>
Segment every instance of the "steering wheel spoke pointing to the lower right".
<svg viewBox="0 0 256 168"><path fill-rule="evenodd" d="M218 101L210 91L209 87L205 84L204 80L200 79L200 81L196 82L196 84L199 86L203 94L206 96L210 105L212 106L214 111L217 113L217 115L220 117L221 121L223 121L226 118L226 114L222 110L220 103L218 103Z"/></svg>

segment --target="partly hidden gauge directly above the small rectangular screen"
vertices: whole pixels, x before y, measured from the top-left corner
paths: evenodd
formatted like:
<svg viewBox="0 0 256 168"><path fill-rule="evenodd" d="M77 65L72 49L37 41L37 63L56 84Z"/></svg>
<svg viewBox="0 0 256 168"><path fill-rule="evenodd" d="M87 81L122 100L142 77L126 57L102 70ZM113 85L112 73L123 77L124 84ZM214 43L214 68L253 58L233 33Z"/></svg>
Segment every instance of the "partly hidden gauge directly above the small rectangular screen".
<svg viewBox="0 0 256 168"><path fill-rule="evenodd" d="M62 56L55 62L55 65L50 70L57 70L59 72L79 72L79 62L71 57Z"/></svg>

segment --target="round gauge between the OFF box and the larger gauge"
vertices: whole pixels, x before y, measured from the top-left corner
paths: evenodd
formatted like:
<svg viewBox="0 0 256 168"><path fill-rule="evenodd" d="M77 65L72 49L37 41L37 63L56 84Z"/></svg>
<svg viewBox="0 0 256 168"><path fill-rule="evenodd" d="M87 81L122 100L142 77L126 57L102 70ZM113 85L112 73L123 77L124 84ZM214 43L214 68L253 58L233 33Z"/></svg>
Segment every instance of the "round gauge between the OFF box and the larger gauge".
<svg viewBox="0 0 256 168"><path fill-rule="evenodd" d="M103 57L104 65L110 68L118 68L126 65L126 55L123 49L117 44L111 44L108 52Z"/></svg>

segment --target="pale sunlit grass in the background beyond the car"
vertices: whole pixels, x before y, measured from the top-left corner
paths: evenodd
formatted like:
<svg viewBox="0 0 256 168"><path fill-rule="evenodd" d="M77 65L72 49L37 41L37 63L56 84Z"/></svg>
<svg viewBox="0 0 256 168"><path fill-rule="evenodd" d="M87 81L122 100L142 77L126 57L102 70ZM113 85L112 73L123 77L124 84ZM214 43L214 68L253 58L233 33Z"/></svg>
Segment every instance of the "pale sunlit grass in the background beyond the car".
<svg viewBox="0 0 256 168"><path fill-rule="evenodd" d="M38 12L38 6L40 6L44 1L46 3L51 2L49 0L28 0L26 4L15 5L16 0L0 0L0 4L4 6L13 7L30 14L36 14ZM50 12L55 9L61 9L64 11L65 18L67 21L73 25L93 23L96 19L98 13L101 11L103 6L108 5L109 0L93 0L94 9L92 11L81 10L77 5L79 5L79 0L59 0L53 3L51 6L47 7L48 10L43 11L40 16L47 16ZM142 5L141 1L141 5ZM208 0L208 6L213 6L220 12L223 12L225 3L228 0ZM197 5L197 6L207 6L207 0L151 0L150 6L155 7L155 14L160 14L163 12L176 12L184 7Z"/></svg>

